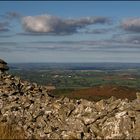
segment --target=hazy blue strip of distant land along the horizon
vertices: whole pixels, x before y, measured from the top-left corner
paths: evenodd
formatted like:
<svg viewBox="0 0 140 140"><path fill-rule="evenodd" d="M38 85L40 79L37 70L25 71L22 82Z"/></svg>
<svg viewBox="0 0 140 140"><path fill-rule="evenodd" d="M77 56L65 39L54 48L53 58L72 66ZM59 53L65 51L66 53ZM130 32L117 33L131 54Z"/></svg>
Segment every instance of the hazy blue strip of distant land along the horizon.
<svg viewBox="0 0 140 140"><path fill-rule="evenodd" d="M140 68L140 63L10 63L10 69L115 70Z"/></svg>

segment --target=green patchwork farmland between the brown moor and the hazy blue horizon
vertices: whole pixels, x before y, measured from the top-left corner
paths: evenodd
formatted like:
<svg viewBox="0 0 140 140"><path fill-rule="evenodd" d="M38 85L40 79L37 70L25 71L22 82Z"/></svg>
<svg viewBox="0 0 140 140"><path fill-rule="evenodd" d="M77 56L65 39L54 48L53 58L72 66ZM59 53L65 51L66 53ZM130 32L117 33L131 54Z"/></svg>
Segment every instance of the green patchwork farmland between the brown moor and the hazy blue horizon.
<svg viewBox="0 0 140 140"><path fill-rule="evenodd" d="M97 85L140 87L140 70L11 70L11 74L40 85L54 85L58 89L81 89Z"/></svg>

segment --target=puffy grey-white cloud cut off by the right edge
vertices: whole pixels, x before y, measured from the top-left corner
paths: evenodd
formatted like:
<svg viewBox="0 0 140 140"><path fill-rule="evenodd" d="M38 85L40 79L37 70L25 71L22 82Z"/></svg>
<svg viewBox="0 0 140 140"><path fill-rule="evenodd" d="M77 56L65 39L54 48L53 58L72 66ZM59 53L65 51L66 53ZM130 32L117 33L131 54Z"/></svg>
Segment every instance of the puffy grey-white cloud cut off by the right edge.
<svg viewBox="0 0 140 140"><path fill-rule="evenodd" d="M140 18L125 19L121 23L121 27L126 31L140 32Z"/></svg>

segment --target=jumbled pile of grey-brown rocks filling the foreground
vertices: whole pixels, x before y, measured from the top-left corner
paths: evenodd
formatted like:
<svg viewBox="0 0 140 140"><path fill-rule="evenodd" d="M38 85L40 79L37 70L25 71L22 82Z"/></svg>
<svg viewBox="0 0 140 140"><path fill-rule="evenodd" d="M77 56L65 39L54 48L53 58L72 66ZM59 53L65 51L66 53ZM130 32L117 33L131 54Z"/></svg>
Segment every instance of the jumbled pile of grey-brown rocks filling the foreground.
<svg viewBox="0 0 140 140"><path fill-rule="evenodd" d="M1 73L0 122L16 124L28 139L140 139L136 95L133 101L55 98L45 86Z"/></svg>

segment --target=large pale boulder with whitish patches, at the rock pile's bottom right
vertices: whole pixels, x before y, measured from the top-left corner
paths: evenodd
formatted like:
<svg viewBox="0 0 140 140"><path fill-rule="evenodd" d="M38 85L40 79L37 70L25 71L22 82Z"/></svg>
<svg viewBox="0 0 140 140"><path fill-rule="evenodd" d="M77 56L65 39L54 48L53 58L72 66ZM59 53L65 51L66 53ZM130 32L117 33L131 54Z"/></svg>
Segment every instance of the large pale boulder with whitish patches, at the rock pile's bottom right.
<svg viewBox="0 0 140 140"><path fill-rule="evenodd" d="M119 112L115 117L108 118L102 126L105 139L132 138L131 119L126 112Z"/></svg>

